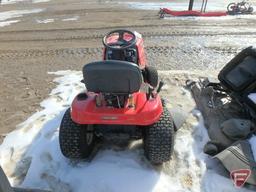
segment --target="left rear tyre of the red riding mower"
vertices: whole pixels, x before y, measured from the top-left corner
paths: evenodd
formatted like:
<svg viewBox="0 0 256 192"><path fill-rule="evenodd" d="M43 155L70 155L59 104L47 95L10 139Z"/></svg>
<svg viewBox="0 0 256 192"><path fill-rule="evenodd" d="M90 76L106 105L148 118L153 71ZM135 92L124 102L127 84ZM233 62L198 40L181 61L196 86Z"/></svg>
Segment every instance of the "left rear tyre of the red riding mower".
<svg viewBox="0 0 256 192"><path fill-rule="evenodd" d="M93 125L79 125L72 121L68 109L61 121L59 144L62 154L70 159L88 158L94 147Z"/></svg>

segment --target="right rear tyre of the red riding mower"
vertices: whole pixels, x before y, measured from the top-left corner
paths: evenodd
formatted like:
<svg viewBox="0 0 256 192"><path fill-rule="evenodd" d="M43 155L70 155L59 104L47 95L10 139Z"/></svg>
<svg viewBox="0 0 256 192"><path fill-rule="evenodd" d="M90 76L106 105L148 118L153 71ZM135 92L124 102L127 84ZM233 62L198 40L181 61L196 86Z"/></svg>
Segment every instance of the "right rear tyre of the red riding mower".
<svg viewBox="0 0 256 192"><path fill-rule="evenodd" d="M166 107L158 122L145 128L144 151L153 164L171 159L174 147L174 123Z"/></svg>

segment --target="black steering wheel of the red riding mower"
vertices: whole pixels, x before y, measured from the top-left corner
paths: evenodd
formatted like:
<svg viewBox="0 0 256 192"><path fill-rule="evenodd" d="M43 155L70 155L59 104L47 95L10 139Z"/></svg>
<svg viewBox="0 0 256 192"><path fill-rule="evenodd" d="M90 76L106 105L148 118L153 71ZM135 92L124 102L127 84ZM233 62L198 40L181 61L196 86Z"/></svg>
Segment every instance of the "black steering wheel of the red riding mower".
<svg viewBox="0 0 256 192"><path fill-rule="evenodd" d="M109 49L127 49L136 44L136 35L128 30L114 30L109 32L102 42Z"/></svg>

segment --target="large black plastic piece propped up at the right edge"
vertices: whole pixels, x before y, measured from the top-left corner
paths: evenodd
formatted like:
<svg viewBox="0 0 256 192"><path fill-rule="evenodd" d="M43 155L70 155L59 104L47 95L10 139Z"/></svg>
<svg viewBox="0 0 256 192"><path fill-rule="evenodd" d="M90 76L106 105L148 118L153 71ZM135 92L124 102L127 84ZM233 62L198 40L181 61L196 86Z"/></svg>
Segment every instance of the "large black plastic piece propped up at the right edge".
<svg viewBox="0 0 256 192"><path fill-rule="evenodd" d="M256 93L256 49L248 47L234 57L219 73L221 85L256 115L256 103L248 96Z"/></svg>

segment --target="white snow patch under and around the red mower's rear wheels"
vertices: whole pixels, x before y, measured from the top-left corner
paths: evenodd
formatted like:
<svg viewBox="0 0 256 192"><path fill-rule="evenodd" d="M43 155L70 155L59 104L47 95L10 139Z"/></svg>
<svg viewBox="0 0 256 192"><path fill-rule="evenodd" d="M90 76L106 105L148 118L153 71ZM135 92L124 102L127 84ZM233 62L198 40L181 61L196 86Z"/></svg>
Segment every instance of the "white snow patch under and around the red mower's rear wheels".
<svg viewBox="0 0 256 192"><path fill-rule="evenodd" d="M67 160L58 144L59 125L74 96L85 88L80 72L52 74L59 76L55 79L58 85L41 103L43 110L20 124L0 145L0 164L13 185L54 192L249 192L234 188L229 178L213 169L213 160L203 153L208 135L198 111L193 111L196 118L190 113L177 133L173 160L162 167L148 163L140 141L127 148L107 146L91 162ZM169 93L173 88L165 87ZM189 94L180 92L192 102Z"/></svg>

